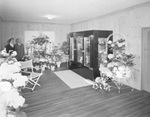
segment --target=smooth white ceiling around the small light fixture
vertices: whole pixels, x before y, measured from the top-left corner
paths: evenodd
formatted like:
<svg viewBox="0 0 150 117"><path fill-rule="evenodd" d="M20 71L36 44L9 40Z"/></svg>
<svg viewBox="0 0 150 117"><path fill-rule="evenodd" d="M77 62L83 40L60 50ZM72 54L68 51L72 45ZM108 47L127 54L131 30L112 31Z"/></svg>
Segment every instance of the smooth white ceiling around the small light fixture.
<svg viewBox="0 0 150 117"><path fill-rule="evenodd" d="M150 0L0 0L3 20L72 24ZM57 17L48 21L47 14Z"/></svg>

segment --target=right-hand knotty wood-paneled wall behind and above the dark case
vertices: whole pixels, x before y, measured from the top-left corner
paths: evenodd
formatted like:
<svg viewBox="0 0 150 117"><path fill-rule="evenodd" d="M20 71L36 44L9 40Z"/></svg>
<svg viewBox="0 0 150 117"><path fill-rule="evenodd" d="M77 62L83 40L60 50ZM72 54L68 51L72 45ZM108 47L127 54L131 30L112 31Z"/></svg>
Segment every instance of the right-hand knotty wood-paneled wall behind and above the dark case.
<svg viewBox="0 0 150 117"><path fill-rule="evenodd" d="M150 3L71 25L71 31L113 30L126 39L126 53L136 55L135 88L141 89L141 29L150 27Z"/></svg>

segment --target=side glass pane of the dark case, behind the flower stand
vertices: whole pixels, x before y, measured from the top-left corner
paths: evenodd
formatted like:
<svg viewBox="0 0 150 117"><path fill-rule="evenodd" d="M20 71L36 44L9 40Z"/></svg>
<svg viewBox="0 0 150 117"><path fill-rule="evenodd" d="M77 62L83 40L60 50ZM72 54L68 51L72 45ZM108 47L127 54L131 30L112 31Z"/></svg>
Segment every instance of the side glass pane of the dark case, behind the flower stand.
<svg viewBox="0 0 150 117"><path fill-rule="evenodd" d="M106 39L107 38L98 38L98 65L101 63L101 53L106 52ZM100 66L99 66L100 67Z"/></svg>

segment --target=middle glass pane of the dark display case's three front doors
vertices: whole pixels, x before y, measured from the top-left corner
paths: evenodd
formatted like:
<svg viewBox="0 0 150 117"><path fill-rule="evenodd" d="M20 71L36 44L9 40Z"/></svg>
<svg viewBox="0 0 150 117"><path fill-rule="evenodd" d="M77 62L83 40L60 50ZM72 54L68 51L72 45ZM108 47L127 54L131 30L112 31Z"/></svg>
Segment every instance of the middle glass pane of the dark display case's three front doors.
<svg viewBox="0 0 150 117"><path fill-rule="evenodd" d="M83 37L77 38L77 62L83 63Z"/></svg>

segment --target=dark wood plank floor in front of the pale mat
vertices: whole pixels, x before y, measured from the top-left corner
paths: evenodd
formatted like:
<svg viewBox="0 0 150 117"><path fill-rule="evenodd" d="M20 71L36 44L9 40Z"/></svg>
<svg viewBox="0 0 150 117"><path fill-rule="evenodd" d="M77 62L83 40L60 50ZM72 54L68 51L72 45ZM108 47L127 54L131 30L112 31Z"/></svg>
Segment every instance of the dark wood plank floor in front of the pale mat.
<svg viewBox="0 0 150 117"><path fill-rule="evenodd" d="M41 77L41 87L24 91L28 117L150 117L150 93L125 86L121 93L92 89L70 89L53 72Z"/></svg>

